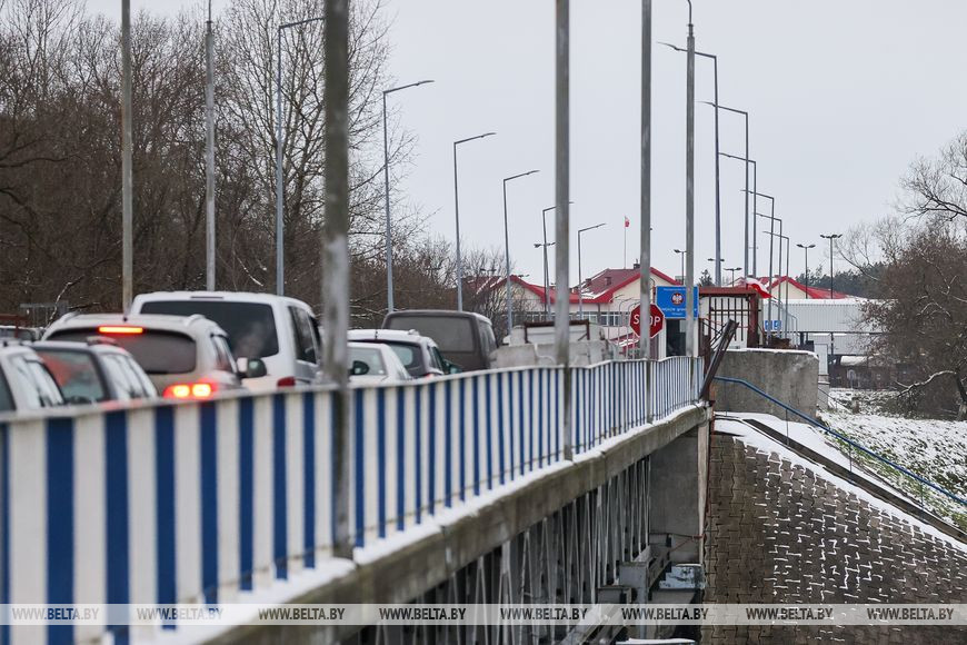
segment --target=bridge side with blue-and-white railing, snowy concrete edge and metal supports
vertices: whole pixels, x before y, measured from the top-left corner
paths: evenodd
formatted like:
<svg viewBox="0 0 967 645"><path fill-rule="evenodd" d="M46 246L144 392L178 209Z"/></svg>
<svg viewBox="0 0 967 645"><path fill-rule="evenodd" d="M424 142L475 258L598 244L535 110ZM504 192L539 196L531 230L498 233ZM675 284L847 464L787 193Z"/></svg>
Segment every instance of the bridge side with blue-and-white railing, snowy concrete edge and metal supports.
<svg viewBox="0 0 967 645"><path fill-rule="evenodd" d="M594 603L636 560L644 589L649 543L700 553L701 378L699 359L675 357L352 387L346 453L327 387L7 419L0 604ZM118 618L0 635L229 642L255 629L243 615L217 629ZM259 633L270 629L349 635Z"/></svg>

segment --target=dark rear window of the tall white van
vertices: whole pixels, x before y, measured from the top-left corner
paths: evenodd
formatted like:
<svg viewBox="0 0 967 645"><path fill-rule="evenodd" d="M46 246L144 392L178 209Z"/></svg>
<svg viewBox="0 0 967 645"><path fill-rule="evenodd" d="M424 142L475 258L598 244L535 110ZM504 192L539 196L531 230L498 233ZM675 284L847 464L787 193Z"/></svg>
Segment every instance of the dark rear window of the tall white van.
<svg viewBox="0 0 967 645"><path fill-rule="evenodd" d="M279 353L276 317L270 305L228 300L163 300L144 302L140 312L170 316L201 314L225 329L236 356L266 358Z"/></svg>

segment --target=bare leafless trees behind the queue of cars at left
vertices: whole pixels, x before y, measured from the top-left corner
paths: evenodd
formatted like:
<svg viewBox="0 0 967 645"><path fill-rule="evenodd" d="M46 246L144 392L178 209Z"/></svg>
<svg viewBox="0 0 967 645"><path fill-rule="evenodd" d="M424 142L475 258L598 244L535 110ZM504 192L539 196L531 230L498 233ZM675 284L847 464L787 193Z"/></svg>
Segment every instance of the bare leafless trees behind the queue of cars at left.
<svg viewBox="0 0 967 645"><path fill-rule="evenodd" d="M205 29L201 8L132 19L134 292L205 288ZM277 26L312 0L231 0L215 23L218 288L273 291ZM352 317L386 309L382 0L350 18ZM283 31L286 292L318 307L325 82L321 22ZM120 27L80 0L0 0L0 311L23 302L119 310ZM451 245L425 232L396 189L413 138L393 126L389 159L399 307L453 307ZM465 275L496 262L465 251ZM480 306L470 298L470 306Z"/></svg>

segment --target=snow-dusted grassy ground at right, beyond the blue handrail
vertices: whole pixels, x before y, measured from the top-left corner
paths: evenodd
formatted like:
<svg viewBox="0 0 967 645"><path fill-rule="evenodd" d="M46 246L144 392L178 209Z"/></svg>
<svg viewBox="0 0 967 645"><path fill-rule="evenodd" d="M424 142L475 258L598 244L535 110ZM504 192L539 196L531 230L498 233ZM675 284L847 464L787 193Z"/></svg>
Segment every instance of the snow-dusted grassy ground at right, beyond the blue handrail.
<svg viewBox="0 0 967 645"><path fill-rule="evenodd" d="M908 470L934 482L958 497L967 497L967 421L909 419L881 411L889 393L834 389L830 399L838 405L823 413L823 420L850 439L870 448ZM859 414L851 414L856 400ZM827 439L836 444L835 439ZM873 459L869 468L891 482L907 495L919 499L916 482ZM943 495L926 493L927 506L935 513L967 529L967 510Z"/></svg>

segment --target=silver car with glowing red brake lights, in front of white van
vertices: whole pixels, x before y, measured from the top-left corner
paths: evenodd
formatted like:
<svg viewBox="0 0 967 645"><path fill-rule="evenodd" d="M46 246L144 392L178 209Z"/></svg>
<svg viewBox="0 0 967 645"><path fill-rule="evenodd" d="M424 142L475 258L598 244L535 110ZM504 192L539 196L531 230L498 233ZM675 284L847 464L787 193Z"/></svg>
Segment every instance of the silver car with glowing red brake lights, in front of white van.
<svg viewBox="0 0 967 645"><path fill-rule="evenodd" d="M242 378L265 376L261 360L239 366L226 333L203 316L64 316L47 329L44 340L87 343L111 338L127 349L166 398L207 399L243 389Z"/></svg>

